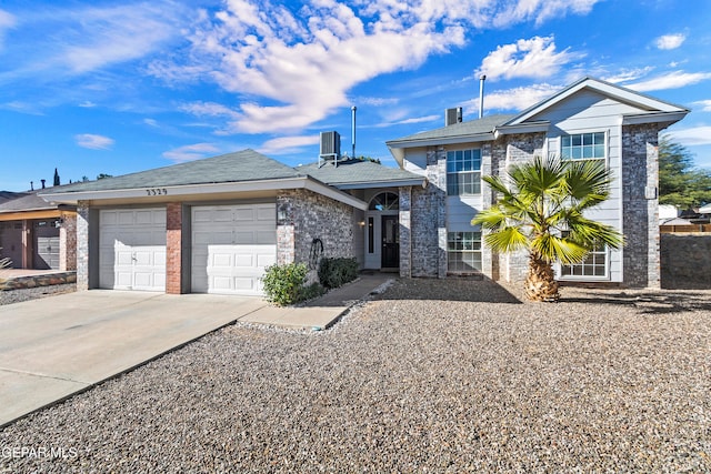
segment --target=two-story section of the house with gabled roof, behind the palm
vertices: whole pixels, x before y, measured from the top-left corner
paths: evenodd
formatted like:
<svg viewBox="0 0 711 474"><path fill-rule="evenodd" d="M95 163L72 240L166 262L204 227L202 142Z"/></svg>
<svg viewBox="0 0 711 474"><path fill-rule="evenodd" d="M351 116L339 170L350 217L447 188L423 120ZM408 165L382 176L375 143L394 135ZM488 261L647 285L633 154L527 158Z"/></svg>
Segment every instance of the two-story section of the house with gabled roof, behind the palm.
<svg viewBox="0 0 711 474"><path fill-rule="evenodd" d="M387 142L404 170L427 175L401 210L411 212L412 268L405 275L443 278L481 272L493 280L524 278L528 255L500 255L470 225L495 199L482 174L535 155L600 160L614 175L611 199L590 218L619 229L621 250L601 248L585 262L558 265L560 280L660 285L658 134L689 111L638 92L584 78L515 115L491 115ZM448 113L448 117L451 117Z"/></svg>

